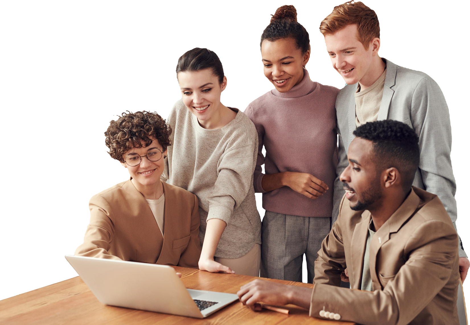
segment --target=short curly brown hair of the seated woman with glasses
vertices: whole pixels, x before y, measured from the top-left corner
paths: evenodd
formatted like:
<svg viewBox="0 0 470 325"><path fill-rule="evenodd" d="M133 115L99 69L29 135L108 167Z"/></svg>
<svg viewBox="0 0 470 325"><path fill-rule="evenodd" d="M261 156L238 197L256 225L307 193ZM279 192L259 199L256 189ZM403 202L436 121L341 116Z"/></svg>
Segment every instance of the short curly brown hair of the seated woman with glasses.
<svg viewBox="0 0 470 325"><path fill-rule="evenodd" d="M111 158L124 162L123 155L132 148L148 147L157 139L163 151L171 146L172 128L156 111L126 110L117 119L110 121L104 132L104 142ZM153 138L153 139L152 139Z"/></svg>

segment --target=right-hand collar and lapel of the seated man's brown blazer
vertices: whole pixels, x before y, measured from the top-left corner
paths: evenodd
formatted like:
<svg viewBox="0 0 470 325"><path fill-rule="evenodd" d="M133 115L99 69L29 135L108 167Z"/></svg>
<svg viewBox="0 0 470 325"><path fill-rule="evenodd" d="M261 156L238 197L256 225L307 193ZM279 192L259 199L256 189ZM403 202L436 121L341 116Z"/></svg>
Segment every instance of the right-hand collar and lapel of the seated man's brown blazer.
<svg viewBox="0 0 470 325"><path fill-rule="evenodd" d="M392 216L385 221L382 227L380 227L376 234L371 238L369 246L369 267L370 278L372 279L374 290L381 289L376 271L377 254L380 248L390 239L390 234L398 232L408 218L415 213L419 202L420 200L418 195L416 195L415 191L412 189L405 201L403 201L399 208L393 212Z"/></svg>

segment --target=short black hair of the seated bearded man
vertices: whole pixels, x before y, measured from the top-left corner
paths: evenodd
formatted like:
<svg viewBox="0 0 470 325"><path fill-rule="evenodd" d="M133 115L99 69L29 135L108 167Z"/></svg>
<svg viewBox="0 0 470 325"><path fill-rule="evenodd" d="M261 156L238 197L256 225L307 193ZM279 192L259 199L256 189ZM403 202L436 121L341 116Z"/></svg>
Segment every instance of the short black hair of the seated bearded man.
<svg viewBox="0 0 470 325"><path fill-rule="evenodd" d="M384 120L361 125L352 134L372 141L377 169L395 167L403 178L403 189L409 190L419 167L419 138L412 128Z"/></svg>

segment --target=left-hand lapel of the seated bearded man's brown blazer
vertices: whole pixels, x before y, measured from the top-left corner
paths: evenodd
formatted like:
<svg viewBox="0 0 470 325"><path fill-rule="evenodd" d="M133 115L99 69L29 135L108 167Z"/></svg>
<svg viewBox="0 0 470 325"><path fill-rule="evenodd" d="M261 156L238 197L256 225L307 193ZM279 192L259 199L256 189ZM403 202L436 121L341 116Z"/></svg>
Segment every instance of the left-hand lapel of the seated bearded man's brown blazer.
<svg viewBox="0 0 470 325"><path fill-rule="evenodd" d="M366 250L366 240L368 227L370 223L370 212L368 210L362 212L362 222L356 224L351 237L351 260L352 270L348 265L348 273L352 275L352 289L360 289L360 281L362 277L362 265L364 263L364 252ZM352 271L352 272L351 272ZM352 274L351 274L352 273Z"/></svg>

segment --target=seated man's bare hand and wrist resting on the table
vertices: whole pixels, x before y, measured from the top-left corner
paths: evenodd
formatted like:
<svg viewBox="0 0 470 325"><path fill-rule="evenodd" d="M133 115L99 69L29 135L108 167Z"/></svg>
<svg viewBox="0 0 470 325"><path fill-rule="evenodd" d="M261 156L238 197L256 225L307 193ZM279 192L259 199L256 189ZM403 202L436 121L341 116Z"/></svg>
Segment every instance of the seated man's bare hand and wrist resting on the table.
<svg viewBox="0 0 470 325"><path fill-rule="evenodd" d="M312 289L257 279L242 286L237 295L244 305L257 311L261 310L258 302L275 306L291 303L309 309Z"/></svg>

